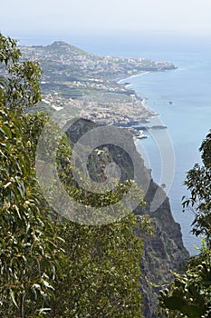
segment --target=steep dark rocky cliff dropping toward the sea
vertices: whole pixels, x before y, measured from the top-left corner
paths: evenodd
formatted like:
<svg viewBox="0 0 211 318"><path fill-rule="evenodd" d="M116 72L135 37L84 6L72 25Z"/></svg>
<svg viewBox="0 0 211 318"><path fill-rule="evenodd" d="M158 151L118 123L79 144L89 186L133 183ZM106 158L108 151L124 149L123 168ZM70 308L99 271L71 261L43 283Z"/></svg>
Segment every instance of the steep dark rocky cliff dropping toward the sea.
<svg viewBox="0 0 211 318"><path fill-rule="evenodd" d="M91 121L79 119L66 127L66 134L72 143L78 142L80 137L96 125ZM131 135L126 135L125 143L129 144L130 152L133 154L133 159L139 160L138 177L143 184L143 188L148 184L148 191L145 195L146 205L144 208L136 208L135 214L149 214L152 224L154 224L155 232L152 237L145 237L138 234L144 241L143 257L140 260L142 270L141 289L143 294L144 303L144 317L155 318L157 317L157 303L158 291L161 286L168 283L172 279L172 273L178 272L180 266L188 258L189 254L183 245L182 234L180 225L174 221L171 214L168 197L162 188L155 184L151 179L148 169L144 166L143 159L137 152L135 144ZM98 147L98 150L103 154L103 162L101 156L98 159L92 157L91 174L103 175L103 169L106 162L115 162L120 167L123 179L129 179L133 176L132 161L129 154L125 153L116 144L103 144ZM98 153L99 153L98 151ZM96 154L96 152L95 152ZM95 180L97 181L97 180ZM123 180L121 180L123 181ZM150 212L150 204L158 193L158 197L162 198L162 204L158 206L155 212ZM152 284L158 285L152 287Z"/></svg>

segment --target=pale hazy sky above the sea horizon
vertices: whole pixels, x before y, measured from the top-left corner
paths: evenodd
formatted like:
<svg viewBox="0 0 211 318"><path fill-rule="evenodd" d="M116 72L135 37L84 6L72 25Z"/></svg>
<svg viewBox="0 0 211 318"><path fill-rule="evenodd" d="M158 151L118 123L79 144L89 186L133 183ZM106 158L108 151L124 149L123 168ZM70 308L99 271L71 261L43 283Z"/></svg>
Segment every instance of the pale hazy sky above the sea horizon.
<svg viewBox="0 0 211 318"><path fill-rule="evenodd" d="M6 35L127 31L211 35L210 0L4 0Z"/></svg>

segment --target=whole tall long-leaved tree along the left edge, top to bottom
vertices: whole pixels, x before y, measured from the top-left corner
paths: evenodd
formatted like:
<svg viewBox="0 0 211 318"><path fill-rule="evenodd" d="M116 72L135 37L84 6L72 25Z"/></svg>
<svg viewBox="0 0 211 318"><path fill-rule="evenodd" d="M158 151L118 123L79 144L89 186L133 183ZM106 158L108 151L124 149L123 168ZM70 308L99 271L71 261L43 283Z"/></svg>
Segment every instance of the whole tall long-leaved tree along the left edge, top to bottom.
<svg viewBox="0 0 211 318"><path fill-rule="evenodd" d="M53 296L61 249L36 184L23 114L40 98L40 69L19 64L19 56L14 41L0 35L1 63L8 70L0 82L0 315L38 317Z"/></svg>

